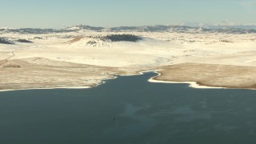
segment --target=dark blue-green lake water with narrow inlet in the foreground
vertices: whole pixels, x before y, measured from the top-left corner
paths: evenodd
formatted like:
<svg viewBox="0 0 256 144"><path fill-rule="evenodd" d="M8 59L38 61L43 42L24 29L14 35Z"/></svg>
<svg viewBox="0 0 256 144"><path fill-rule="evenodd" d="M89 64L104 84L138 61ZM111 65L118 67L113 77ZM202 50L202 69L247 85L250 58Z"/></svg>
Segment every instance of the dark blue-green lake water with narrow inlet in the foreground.
<svg viewBox="0 0 256 144"><path fill-rule="evenodd" d="M1 144L255 144L256 90L150 83L0 92Z"/></svg>

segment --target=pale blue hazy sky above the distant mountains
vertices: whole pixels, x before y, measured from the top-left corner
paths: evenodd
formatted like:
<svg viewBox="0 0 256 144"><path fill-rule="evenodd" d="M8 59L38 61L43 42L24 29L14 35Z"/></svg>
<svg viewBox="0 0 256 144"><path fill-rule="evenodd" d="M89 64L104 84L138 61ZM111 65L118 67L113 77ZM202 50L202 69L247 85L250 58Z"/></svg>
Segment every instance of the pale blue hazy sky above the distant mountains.
<svg viewBox="0 0 256 144"><path fill-rule="evenodd" d="M0 0L0 26L256 23L256 0Z"/></svg>

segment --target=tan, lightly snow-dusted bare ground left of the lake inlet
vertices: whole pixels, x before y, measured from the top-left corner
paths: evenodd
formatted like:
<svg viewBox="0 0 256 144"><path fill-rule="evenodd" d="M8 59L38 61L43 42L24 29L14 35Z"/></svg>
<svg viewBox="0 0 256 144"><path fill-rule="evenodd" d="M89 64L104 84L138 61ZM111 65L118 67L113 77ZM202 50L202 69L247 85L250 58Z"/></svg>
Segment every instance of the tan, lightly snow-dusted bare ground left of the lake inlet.
<svg viewBox="0 0 256 144"><path fill-rule="evenodd" d="M115 74L114 67L58 62L46 58L11 60L0 67L0 90L96 86Z"/></svg>

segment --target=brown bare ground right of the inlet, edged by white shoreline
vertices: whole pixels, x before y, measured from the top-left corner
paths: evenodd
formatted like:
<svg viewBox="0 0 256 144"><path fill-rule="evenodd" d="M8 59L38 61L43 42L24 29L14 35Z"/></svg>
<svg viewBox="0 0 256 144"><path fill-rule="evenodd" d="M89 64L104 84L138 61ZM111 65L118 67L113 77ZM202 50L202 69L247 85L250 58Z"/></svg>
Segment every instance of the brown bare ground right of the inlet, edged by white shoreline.
<svg viewBox="0 0 256 144"><path fill-rule="evenodd" d="M256 89L256 67L183 63L159 67L159 81L197 82L200 86Z"/></svg>

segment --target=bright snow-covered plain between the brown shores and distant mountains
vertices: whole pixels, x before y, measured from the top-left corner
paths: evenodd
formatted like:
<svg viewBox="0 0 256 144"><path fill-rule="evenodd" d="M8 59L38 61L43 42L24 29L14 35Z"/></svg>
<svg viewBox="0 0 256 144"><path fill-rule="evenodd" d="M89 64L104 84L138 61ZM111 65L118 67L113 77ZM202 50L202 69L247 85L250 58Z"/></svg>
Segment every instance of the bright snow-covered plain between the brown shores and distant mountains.
<svg viewBox="0 0 256 144"><path fill-rule="evenodd" d="M134 34L142 37L142 41L105 42L98 38L107 34ZM86 66L109 67L116 70L112 70L113 74L134 74L140 70L161 69L161 66L188 62L256 66L256 34L80 30L57 34L7 33L0 34L0 37L13 41L27 39L34 42L0 44L0 63L14 53L8 62L0 65L1 71L6 70L6 66L11 62L18 61L40 66L52 66L53 62L62 62L60 65L71 62ZM33 58L35 60L31 61ZM36 60L37 58L41 58L40 62ZM17 69L13 71L18 75ZM1 80L5 81L5 78ZM5 89L4 86L2 89Z"/></svg>

